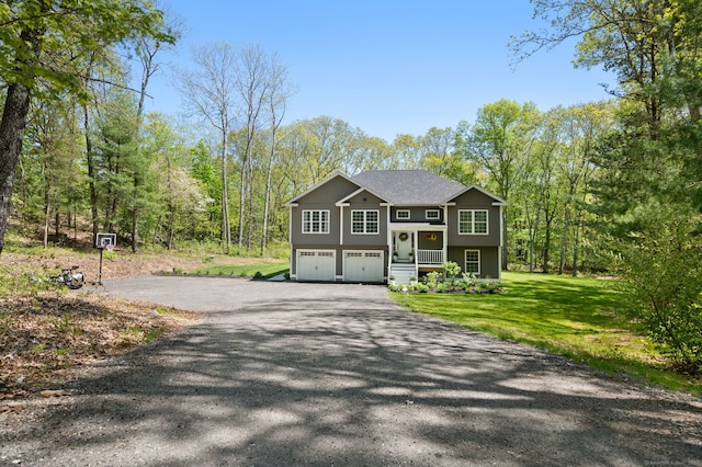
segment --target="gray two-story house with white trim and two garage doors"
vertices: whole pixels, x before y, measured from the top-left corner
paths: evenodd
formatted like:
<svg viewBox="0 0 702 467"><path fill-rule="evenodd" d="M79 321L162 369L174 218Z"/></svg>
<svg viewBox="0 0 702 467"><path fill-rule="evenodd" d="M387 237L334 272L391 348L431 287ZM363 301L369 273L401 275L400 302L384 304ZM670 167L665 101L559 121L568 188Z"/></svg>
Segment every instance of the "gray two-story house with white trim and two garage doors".
<svg viewBox="0 0 702 467"><path fill-rule="evenodd" d="M507 203L423 170L329 176L290 201L290 275L296 281L407 283L454 261L500 278Z"/></svg>

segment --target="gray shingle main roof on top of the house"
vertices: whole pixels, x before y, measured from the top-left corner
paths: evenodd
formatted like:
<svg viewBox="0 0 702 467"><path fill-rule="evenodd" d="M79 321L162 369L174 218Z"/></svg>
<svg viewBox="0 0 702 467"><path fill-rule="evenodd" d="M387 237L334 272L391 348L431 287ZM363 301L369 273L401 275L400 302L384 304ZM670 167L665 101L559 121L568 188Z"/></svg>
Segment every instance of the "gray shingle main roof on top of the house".
<svg viewBox="0 0 702 467"><path fill-rule="evenodd" d="M466 190L426 170L370 170L351 180L395 205L435 205Z"/></svg>

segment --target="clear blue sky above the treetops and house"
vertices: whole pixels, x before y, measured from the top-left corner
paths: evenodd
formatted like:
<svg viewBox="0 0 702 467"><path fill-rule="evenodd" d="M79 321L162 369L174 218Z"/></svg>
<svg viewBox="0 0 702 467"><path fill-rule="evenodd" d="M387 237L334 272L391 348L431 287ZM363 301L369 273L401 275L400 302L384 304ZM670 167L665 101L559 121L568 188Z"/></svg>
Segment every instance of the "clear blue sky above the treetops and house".
<svg viewBox="0 0 702 467"><path fill-rule="evenodd" d="M510 35L539 26L528 0L161 0L186 33L161 60L191 67L193 45L260 44L276 53L297 91L286 122L327 115L392 143L432 126L475 119L510 99L542 111L607 99L601 70L574 69L569 43L510 68ZM152 79L149 111L177 115L166 73Z"/></svg>

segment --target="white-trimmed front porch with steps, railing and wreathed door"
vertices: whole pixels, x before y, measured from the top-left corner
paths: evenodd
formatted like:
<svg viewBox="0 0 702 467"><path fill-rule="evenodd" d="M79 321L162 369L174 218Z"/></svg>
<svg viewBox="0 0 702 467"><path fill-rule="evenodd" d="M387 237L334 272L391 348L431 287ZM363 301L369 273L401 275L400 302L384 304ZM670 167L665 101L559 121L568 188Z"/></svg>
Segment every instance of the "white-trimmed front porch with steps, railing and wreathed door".
<svg viewBox="0 0 702 467"><path fill-rule="evenodd" d="M398 284L417 280L421 270L437 271L446 261L446 227L444 225L390 226L390 262L388 277Z"/></svg>

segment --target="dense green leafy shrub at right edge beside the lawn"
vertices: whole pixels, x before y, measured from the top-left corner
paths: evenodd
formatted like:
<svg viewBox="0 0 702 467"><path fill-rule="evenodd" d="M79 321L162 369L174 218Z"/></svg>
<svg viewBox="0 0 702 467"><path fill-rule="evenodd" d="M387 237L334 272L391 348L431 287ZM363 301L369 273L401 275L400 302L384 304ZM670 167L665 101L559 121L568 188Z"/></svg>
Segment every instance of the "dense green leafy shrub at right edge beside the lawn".
<svg viewBox="0 0 702 467"><path fill-rule="evenodd" d="M642 208L622 242L629 311L661 353L684 372L702 372L702 216Z"/></svg>

